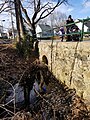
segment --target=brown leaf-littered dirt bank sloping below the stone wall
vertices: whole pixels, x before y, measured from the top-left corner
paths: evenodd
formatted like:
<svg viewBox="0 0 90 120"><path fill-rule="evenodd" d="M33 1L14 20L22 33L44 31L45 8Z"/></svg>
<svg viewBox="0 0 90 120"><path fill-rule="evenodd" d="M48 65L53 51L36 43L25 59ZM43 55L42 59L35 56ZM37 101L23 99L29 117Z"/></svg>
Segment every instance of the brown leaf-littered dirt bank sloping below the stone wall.
<svg viewBox="0 0 90 120"><path fill-rule="evenodd" d="M25 69L32 64L37 57L34 52L29 59L19 56L18 51L12 44L0 45L0 88L8 81L12 85L19 82ZM17 109L13 112L11 109L5 109L3 101L5 92L0 90L0 108L4 109L8 115L1 119L5 120L90 120L90 113L87 106L75 89L69 89L62 82L58 82L55 76L50 73L49 84L46 86L45 93L37 94L37 101L30 105L30 111L25 108ZM7 88L7 87L6 87ZM6 89L5 88L5 89ZM2 113L0 113L0 116Z"/></svg>

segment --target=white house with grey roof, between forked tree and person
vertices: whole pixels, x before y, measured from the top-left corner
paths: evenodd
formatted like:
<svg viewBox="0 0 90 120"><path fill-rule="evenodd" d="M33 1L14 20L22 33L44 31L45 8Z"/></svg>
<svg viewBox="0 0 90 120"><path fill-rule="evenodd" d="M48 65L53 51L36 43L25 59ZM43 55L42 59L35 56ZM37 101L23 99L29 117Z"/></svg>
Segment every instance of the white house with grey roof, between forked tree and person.
<svg viewBox="0 0 90 120"><path fill-rule="evenodd" d="M53 29L47 24L38 24L36 26L37 38L49 38L54 35Z"/></svg>

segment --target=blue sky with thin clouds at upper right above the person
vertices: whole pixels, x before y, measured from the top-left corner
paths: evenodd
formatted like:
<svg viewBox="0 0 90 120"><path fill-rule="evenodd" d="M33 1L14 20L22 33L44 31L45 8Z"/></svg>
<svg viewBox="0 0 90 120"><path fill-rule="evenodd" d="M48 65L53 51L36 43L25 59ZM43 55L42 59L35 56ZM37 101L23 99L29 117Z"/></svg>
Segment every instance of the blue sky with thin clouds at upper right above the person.
<svg viewBox="0 0 90 120"><path fill-rule="evenodd" d="M74 19L90 17L90 0L68 0L69 5L61 5L58 10L72 15Z"/></svg>

